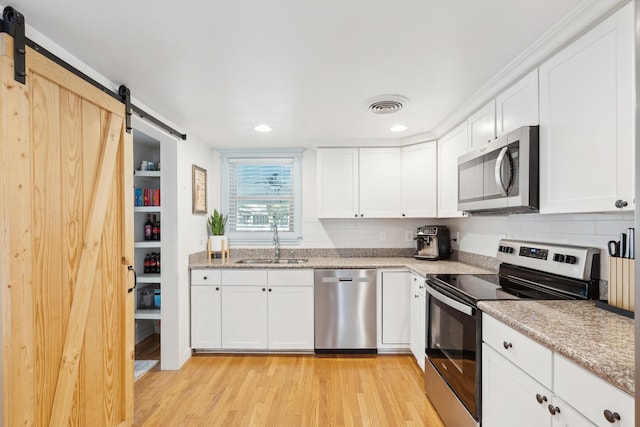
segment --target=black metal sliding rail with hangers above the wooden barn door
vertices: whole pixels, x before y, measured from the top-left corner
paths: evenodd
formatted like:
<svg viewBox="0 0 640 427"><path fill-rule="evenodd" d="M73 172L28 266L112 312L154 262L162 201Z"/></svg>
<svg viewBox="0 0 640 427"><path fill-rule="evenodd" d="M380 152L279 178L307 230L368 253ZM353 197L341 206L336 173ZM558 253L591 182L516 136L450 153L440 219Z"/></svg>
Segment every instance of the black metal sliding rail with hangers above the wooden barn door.
<svg viewBox="0 0 640 427"><path fill-rule="evenodd" d="M44 47L40 46L38 43L36 43L33 40L31 40L28 37L26 37L25 36L25 18L19 11L17 11L16 9L14 9L11 6L5 7L3 12L2 12L2 19L0 20L0 33L7 33L8 35L13 37L13 39L14 39L13 40L13 45L14 45L14 68L15 68L14 78L15 78L15 80L17 82L20 82L22 84L25 84L25 82L26 82L27 71L26 71L25 57L26 57L26 53L27 53L26 52L26 47L28 46L31 49L33 49L34 51L36 51L39 54L41 54L44 57L46 57L47 59L55 62L56 64L58 64L59 66L61 66L65 70L69 71L70 73L80 77L82 80L86 81L90 85L98 88L99 90L101 90L102 92L106 93L107 95L109 95L109 96L117 99L118 101L124 103L126 105L126 110L127 110L126 111L127 112L126 123L127 123L127 132L128 133L131 133L131 130L132 130L132 128L131 128L131 111L134 111L140 117L152 122L153 124L155 124L159 128L165 130L167 133L169 133L171 135L174 135L174 136L177 136L180 139L182 139L183 141L185 141L187 139L187 134L182 133L182 132L178 132L173 127L171 127L168 124L166 124L165 122L153 117L151 114L147 113L142 108L137 107L134 104L132 104L131 103L131 93L130 93L129 89L127 89L126 87L125 87L125 89L126 89L126 92L127 92L127 96L126 96L126 101L125 101L124 97L120 93L122 89L120 89L118 92L114 92L113 90L109 89L108 87L104 86L103 84L99 83L98 81L92 79L91 77L89 77L88 75L83 73L82 71L78 70L77 68L75 68L74 66L72 66L71 64L66 62L65 60L63 60L60 57L56 56L55 54L49 52L47 49L45 49Z"/></svg>

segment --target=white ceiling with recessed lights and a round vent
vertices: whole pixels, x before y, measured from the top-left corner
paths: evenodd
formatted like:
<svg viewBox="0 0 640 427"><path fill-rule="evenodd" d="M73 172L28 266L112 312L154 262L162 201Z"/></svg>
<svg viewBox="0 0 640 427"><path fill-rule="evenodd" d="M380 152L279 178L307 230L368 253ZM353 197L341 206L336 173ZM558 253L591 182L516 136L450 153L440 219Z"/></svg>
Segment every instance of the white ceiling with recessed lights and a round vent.
<svg viewBox="0 0 640 427"><path fill-rule="evenodd" d="M375 144L433 131L583 1L5 5L180 130L231 148ZM381 94L410 102L374 115L365 100ZM253 130L262 123L272 132ZM390 132L398 123L408 129Z"/></svg>

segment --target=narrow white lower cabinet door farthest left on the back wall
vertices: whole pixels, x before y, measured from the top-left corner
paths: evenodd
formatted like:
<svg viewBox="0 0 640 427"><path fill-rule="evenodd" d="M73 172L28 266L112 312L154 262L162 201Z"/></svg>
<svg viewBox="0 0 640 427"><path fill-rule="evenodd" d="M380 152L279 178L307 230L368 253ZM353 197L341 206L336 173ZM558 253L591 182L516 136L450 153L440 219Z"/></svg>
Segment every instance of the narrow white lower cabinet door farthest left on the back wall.
<svg viewBox="0 0 640 427"><path fill-rule="evenodd" d="M191 287L191 348L222 346L220 286Z"/></svg>

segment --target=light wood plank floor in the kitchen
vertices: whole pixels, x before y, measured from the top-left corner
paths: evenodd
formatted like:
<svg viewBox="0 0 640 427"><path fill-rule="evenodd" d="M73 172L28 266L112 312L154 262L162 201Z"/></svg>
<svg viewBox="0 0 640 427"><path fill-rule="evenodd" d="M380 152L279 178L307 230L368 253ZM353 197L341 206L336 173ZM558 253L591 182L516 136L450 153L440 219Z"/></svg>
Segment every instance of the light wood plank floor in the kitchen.
<svg viewBox="0 0 640 427"><path fill-rule="evenodd" d="M442 427L410 355L196 355L135 385L142 426Z"/></svg>

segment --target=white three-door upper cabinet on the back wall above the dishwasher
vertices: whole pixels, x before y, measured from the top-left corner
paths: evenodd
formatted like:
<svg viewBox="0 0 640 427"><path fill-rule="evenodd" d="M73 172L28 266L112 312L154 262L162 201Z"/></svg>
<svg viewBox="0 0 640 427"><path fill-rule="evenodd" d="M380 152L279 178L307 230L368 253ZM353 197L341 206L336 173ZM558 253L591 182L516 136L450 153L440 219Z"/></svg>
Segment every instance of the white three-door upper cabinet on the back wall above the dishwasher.
<svg viewBox="0 0 640 427"><path fill-rule="evenodd" d="M435 142L320 148L318 218L434 217L436 169Z"/></svg>

